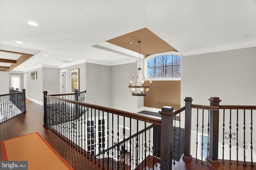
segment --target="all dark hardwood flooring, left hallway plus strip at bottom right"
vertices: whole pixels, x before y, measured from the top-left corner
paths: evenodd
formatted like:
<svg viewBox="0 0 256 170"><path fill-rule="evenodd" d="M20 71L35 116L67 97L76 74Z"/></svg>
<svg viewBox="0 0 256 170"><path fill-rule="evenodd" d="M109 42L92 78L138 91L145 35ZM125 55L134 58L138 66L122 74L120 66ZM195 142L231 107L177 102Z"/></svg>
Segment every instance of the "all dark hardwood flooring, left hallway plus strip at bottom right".
<svg viewBox="0 0 256 170"><path fill-rule="evenodd" d="M45 129L43 124L43 107L34 102L26 103L27 112L14 117L13 119L0 124L0 141L11 139L14 137L19 137L22 135L38 132L46 141L74 168L74 170L101 170L98 167L98 163L94 164L94 161L86 158L75 149L70 147L67 143L62 141L57 135L52 133L52 131ZM36 150L34 151L36 152ZM0 147L0 160L3 160L2 147ZM256 170L256 165L251 167L250 162L247 166L243 166L242 162L239 166L235 162L230 165L220 164L216 166L206 166L200 162L196 163L194 159L192 162L184 162L180 160L178 164L173 165L175 170ZM105 166L106 167L106 166ZM159 168L159 167L158 167ZM105 168L107 169L107 167ZM143 168L144 169L144 168Z"/></svg>

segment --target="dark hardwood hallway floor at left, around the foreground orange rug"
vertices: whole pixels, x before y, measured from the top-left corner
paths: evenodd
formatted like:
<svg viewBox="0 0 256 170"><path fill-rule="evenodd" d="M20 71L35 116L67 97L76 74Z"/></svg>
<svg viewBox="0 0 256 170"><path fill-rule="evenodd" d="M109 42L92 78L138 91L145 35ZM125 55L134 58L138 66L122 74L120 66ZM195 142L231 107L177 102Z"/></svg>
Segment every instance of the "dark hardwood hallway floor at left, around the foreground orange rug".
<svg viewBox="0 0 256 170"><path fill-rule="evenodd" d="M74 170L102 170L98 162L86 158L43 125L43 107L34 102L26 103L27 112L0 124L0 141L38 132L74 168ZM34 150L36 152L36 150ZM3 160L0 147L0 160Z"/></svg>

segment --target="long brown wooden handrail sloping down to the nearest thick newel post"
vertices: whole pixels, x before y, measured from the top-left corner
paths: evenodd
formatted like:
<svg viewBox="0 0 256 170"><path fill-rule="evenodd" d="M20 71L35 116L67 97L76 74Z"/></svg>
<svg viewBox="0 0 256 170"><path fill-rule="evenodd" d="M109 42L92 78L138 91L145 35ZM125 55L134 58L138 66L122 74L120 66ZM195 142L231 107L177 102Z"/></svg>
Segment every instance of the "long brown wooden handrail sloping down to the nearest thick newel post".
<svg viewBox="0 0 256 170"><path fill-rule="evenodd" d="M160 119L156 119L156 118L153 118L153 117L148 117L147 115L140 115L140 114L136 114L136 113L132 113L132 112L128 112L128 111L122 111L122 110L118 110L118 109L112 109L112 108L109 108L109 107L103 107L103 106L97 106L97 105L88 104L88 103L77 102L77 101L74 101L74 100L63 99L63 98L58 98L58 97L54 97L54 96L45 96L45 97L56 99L56 100L61 100L63 102L69 102L69 103L72 103L72 104L77 104L77 105L84 106L84 107L94 108L94 109L105 111L105 112L108 112L108 113L114 113L116 115L121 115L121 116L124 116L124 117L130 117L132 119L138 119L140 121L146 121L148 123L154 123L156 125L161 125L161 120Z"/></svg>

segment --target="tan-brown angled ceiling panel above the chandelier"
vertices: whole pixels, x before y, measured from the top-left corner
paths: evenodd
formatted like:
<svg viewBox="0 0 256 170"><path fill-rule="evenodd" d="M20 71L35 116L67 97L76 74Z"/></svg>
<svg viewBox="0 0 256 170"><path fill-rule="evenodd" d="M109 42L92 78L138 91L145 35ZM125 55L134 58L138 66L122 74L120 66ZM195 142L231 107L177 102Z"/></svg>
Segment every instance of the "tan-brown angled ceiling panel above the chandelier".
<svg viewBox="0 0 256 170"><path fill-rule="evenodd" d="M142 28L137 31L121 35L106 42L139 53L138 41L141 41L140 53L146 57L156 53L177 51L147 28ZM130 42L132 42L132 44L130 44Z"/></svg>

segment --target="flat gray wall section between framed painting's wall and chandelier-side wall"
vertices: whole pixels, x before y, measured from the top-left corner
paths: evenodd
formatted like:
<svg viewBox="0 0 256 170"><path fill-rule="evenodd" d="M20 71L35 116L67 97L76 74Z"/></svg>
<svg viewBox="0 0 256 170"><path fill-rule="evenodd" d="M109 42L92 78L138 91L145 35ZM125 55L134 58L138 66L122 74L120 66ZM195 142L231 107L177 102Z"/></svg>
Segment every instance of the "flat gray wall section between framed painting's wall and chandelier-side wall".
<svg viewBox="0 0 256 170"><path fill-rule="evenodd" d="M86 63L86 102L110 107L110 66Z"/></svg>

